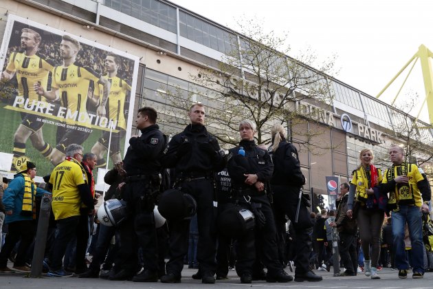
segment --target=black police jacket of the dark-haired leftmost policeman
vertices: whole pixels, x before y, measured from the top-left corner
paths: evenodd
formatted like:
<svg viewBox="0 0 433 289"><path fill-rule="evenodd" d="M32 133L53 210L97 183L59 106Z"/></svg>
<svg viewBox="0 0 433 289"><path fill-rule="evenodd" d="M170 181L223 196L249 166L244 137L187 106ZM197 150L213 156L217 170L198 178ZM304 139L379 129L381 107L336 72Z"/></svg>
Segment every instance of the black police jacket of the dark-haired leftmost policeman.
<svg viewBox="0 0 433 289"><path fill-rule="evenodd" d="M161 164L158 160L165 147L165 139L158 125L151 125L141 130L139 138L129 140L129 148L123 160L126 175L149 175L159 173Z"/></svg>

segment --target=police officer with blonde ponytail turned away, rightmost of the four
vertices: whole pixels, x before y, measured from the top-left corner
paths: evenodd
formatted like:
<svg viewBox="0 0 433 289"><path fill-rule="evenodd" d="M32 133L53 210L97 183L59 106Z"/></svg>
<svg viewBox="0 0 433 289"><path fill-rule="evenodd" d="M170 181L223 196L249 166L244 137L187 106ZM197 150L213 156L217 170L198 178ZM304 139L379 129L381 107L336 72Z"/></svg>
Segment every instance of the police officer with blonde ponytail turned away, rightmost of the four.
<svg viewBox="0 0 433 289"><path fill-rule="evenodd" d="M305 184L304 175L300 170L298 151L293 144L285 139L285 129L282 125L274 125L271 129L272 144L269 148L274 161L274 175L271 178L271 188L274 193L274 209L276 215L287 215L296 232L295 248L295 281L321 281L322 276L309 270L309 255L311 252L311 231L313 223L307 206L308 200L302 197L296 222L296 211L300 189ZM283 220L282 217L276 217ZM278 226L280 227L280 226Z"/></svg>

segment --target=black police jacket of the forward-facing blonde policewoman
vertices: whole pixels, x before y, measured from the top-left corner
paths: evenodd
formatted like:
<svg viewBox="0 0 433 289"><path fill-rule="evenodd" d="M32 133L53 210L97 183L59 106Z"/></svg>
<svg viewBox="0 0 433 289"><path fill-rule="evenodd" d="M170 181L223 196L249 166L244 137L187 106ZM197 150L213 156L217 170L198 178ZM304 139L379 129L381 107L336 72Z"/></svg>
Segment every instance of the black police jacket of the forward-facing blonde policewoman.
<svg viewBox="0 0 433 289"><path fill-rule="evenodd" d="M245 156L238 154L239 148L243 147ZM244 174L256 174L260 182L266 184L272 177L274 164L272 164L269 153L256 146L254 140L241 140L237 147L230 149L231 158L227 164L227 170L232 177L232 186L235 190L249 191L249 195L263 194L258 192L254 185L245 184Z"/></svg>

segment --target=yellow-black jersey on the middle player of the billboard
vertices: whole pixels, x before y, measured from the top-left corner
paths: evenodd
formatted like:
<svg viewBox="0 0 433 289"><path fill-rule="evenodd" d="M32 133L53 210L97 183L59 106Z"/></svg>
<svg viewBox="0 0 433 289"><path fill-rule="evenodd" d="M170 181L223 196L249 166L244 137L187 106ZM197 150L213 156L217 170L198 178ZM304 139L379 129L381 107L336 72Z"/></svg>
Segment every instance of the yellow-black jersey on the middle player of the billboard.
<svg viewBox="0 0 433 289"><path fill-rule="evenodd" d="M52 87L58 89L62 107L66 107L69 113L74 115L73 120L67 117L67 122L74 125L88 125L88 123L83 123L82 120L89 120L86 109L89 83L90 81L97 83L99 77L91 69L74 64L68 67L54 67ZM78 120L81 120L81 122L78 122Z"/></svg>

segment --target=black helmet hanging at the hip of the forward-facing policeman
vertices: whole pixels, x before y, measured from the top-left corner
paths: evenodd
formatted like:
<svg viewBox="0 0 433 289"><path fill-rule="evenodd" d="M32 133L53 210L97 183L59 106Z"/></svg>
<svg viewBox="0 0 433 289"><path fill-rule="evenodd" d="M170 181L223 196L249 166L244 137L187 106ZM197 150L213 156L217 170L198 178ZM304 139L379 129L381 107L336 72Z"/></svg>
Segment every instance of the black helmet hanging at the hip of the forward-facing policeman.
<svg viewBox="0 0 433 289"><path fill-rule="evenodd" d="M159 197L158 211L167 220L183 220L195 215L197 203L191 195L170 189Z"/></svg>

